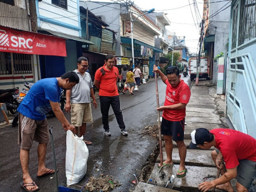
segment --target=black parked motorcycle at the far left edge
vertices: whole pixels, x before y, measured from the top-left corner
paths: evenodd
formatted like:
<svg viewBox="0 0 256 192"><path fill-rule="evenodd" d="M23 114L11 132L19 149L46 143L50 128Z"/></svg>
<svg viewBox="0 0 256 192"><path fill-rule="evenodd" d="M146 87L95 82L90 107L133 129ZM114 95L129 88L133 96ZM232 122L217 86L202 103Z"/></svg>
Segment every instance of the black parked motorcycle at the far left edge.
<svg viewBox="0 0 256 192"><path fill-rule="evenodd" d="M11 114L15 114L18 103L16 98L19 95L19 87L13 89L1 89L0 90L0 103L5 103L6 109L10 111Z"/></svg>

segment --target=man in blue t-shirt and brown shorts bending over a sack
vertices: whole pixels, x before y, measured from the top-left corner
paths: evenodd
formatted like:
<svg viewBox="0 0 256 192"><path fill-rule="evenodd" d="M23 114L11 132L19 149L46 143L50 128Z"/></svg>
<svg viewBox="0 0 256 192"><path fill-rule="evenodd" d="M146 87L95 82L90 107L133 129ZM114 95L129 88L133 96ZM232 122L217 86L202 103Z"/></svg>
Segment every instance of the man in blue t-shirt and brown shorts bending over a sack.
<svg viewBox="0 0 256 192"><path fill-rule="evenodd" d="M21 143L20 159L23 172L21 186L26 191L39 190L30 177L28 169L29 151L33 141L38 142L37 177L54 174L53 169L45 167L46 146L49 141L46 113L53 110L65 131L75 131L75 127L70 125L59 107L59 99L61 87L69 90L77 83L79 77L74 71L69 71L58 78L41 79L31 87L17 109L19 111L18 144Z"/></svg>

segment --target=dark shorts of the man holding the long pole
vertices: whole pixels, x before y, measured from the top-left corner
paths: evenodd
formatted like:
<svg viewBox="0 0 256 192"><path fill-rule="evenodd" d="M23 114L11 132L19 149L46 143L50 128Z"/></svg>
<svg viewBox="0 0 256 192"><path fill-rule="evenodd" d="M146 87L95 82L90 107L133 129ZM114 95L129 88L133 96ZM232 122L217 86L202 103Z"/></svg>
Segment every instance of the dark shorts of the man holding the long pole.
<svg viewBox="0 0 256 192"><path fill-rule="evenodd" d="M168 121L162 118L161 133L173 136L173 141L183 141L185 130L185 118L182 121Z"/></svg>

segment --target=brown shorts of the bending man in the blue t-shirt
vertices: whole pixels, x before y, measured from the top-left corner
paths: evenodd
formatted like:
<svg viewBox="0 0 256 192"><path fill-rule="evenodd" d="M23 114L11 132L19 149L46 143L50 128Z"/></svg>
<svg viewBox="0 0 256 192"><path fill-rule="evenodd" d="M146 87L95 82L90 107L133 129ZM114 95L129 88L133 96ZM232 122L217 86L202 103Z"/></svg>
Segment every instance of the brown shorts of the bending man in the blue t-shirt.
<svg viewBox="0 0 256 192"><path fill-rule="evenodd" d="M33 141L41 144L48 143L49 131L47 119L36 121L19 113L18 144L21 143L21 149L30 150Z"/></svg>

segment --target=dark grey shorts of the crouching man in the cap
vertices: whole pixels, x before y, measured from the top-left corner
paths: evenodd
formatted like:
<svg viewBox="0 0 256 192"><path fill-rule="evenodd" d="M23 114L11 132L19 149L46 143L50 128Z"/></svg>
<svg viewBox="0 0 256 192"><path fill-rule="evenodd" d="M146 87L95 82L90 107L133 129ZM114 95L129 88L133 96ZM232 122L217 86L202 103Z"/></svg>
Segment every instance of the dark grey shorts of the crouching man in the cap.
<svg viewBox="0 0 256 192"><path fill-rule="evenodd" d="M219 153L218 149L215 149ZM237 166L237 182L246 189L250 189L251 183L256 178L256 162L250 161L248 159L239 160L239 165Z"/></svg>

